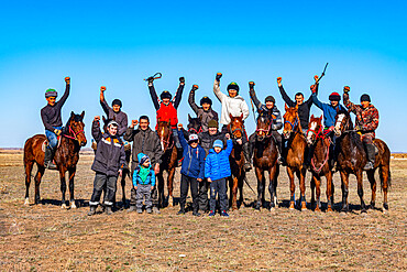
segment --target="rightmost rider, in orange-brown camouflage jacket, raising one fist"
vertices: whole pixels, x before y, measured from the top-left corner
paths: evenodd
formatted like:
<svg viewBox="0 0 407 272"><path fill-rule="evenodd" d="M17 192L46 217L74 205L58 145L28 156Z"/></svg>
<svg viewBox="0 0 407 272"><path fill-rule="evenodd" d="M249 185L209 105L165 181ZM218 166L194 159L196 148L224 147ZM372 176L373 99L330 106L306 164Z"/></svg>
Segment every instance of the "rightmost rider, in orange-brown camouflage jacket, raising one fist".
<svg viewBox="0 0 407 272"><path fill-rule="evenodd" d="M354 105L349 100L349 86L343 87L343 104L354 115L356 115L356 127L361 133L361 140L364 144L367 154L367 163L364 170L374 168L375 146L373 140L375 139L375 130L378 127L378 111L371 104L371 97L366 94L361 96L361 105Z"/></svg>

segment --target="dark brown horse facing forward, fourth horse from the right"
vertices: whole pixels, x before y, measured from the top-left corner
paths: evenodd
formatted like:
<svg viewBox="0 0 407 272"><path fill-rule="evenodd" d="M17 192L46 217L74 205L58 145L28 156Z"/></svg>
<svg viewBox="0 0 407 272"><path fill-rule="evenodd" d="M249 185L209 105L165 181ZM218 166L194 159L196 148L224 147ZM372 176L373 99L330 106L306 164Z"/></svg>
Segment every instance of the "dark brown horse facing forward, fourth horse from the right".
<svg viewBox="0 0 407 272"><path fill-rule="evenodd" d="M262 111L257 118L253 165L257 177L257 202L255 209L260 209L261 205L265 205L265 175L268 172L270 185L268 192L271 196L270 210L277 206L277 176L279 173L279 165L277 164L278 151L275 140L272 135L273 120L271 116Z"/></svg>

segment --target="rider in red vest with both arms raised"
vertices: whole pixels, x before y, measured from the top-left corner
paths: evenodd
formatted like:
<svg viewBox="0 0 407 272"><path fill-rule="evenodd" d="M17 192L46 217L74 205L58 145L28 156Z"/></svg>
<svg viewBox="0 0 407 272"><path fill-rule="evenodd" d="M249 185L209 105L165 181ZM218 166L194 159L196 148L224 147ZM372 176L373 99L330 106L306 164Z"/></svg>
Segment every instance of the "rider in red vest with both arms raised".
<svg viewBox="0 0 407 272"><path fill-rule="evenodd" d="M184 86L185 86L185 78L179 77L178 90L175 94L174 98L169 94L168 90L164 90L160 96L161 99L158 99L157 93L155 91L154 84L153 84L154 78L148 77L147 81L148 81L150 95L151 95L151 98L153 100L155 110L157 111L157 124L158 124L158 120L170 122L170 127L172 127L173 135L174 135L174 141L175 141L175 146L177 148L177 150L182 150L183 146L179 143L178 130L177 130L177 123L178 123L177 108L178 108L178 106L180 104L180 99L183 97L183 90L184 90ZM155 129L157 129L157 127Z"/></svg>

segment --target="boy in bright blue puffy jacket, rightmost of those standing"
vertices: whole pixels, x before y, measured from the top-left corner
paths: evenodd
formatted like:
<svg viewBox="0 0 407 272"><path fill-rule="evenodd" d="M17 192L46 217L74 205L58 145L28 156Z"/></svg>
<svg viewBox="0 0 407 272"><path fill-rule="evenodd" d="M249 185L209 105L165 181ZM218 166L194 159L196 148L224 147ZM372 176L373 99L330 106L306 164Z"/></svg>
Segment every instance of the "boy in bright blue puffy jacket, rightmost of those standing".
<svg viewBox="0 0 407 272"><path fill-rule="evenodd" d="M223 142L221 140L216 140L213 142L213 149L209 151L205 162L205 177L207 177L210 183L209 216L215 216L218 194L221 210L220 215L229 217L227 213L227 177L231 175L229 155L232 153L233 142L230 140L229 133L226 137L228 139L227 149L222 150Z"/></svg>

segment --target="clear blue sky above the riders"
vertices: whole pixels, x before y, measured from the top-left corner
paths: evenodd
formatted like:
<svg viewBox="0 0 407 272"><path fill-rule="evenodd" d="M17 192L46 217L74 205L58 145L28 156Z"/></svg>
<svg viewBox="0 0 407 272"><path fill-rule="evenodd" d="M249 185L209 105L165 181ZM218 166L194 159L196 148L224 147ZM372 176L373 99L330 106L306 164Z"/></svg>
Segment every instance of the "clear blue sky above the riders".
<svg viewBox="0 0 407 272"><path fill-rule="evenodd" d="M59 97L64 77L72 93L63 109L86 111L86 132L102 115L106 98L123 101L129 119L155 112L143 78L156 72L157 91L175 93L178 77L186 89L180 122L193 111L187 97L199 85L197 102L212 91L217 72L221 88L237 81L249 99L248 81L263 100L274 95L284 111L276 77L294 98L309 96L312 76L320 75L319 97L351 86L351 99L369 93L378 108L377 137L392 151L407 152L407 10L405 1L8 1L0 9L0 146L22 148L44 133L40 110L44 91ZM320 115L317 108L312 112ZM253 117L246 121L254 131ZM10 131L10 132L9 132ZM90 141L89 141L90 142Z"/></svg>

